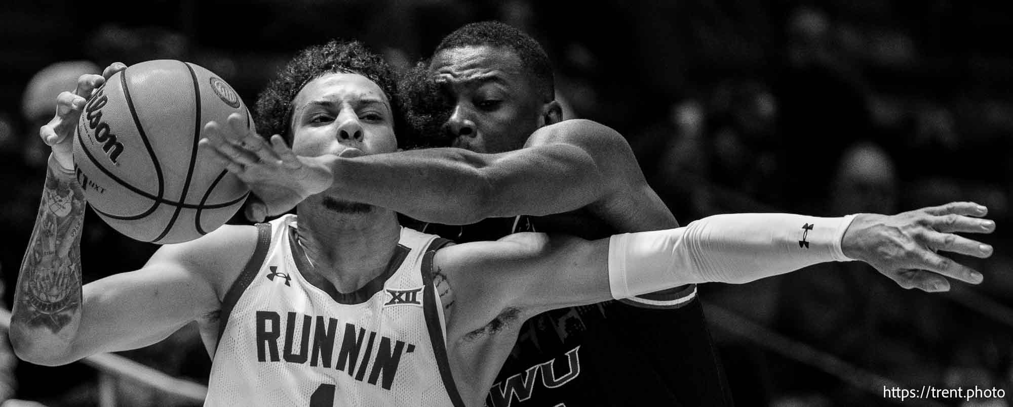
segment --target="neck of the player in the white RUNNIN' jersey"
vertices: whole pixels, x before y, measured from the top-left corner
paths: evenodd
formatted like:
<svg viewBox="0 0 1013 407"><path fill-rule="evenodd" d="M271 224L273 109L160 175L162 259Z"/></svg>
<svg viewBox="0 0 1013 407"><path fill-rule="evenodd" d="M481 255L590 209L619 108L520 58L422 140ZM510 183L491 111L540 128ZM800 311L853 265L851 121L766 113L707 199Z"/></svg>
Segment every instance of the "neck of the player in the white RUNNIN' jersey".
<svg viewBox="0 0 1013 407"><path fill-rule="evenodd" d="M397 215L389 210L335 213L301 204L298 212L296 236L311 268L304 276L324 291L323 280L338 293L353 293L384 273L401 238Z"/></svg>

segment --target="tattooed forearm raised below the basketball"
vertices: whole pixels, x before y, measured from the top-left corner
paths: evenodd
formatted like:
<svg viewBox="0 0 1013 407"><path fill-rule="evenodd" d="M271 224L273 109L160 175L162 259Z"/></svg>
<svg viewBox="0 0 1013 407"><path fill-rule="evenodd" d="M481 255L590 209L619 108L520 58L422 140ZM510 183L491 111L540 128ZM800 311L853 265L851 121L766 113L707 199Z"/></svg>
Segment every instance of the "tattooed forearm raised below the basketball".
<svg viewBox="0 0 1013 407"><path fill-rule="evenodd" d="M73 175L47 171L35 229L21 260L13 318L56 334L80 320L85 201Z"/></svg>

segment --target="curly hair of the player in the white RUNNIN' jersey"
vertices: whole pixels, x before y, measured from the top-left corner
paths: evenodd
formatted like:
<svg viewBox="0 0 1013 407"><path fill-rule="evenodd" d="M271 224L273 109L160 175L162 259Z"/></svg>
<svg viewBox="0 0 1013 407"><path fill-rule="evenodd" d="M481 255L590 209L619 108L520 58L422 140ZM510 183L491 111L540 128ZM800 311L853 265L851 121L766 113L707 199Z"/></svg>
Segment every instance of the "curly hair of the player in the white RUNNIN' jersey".
<svg viewBox="0 0 1013 407"><path fill-rule="evenodd" d="M257 132L265 138L282 135L291 146L292 101L307 83L327 73L360 74L376 83L390 100L397 144L405 146L410 129L403 126L397 79L383 57L357 40L332 39L322 46L309 47L293 58L257 97Z"/></svg>

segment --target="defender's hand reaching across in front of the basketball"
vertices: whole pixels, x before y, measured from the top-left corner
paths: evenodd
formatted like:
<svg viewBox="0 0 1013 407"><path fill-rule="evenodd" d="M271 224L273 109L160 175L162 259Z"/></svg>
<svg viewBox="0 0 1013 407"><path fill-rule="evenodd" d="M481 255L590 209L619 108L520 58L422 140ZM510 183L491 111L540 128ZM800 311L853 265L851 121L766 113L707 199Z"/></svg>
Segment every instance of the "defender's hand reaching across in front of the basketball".
<svg viewBox="0 0 1013 407"><path fill-rule="evenodd" d="M247 129L239 113L227 124L209 121L200 147L210 150L216 161L246 183L255 196L246 204L246 218L261 222L281 215L306 197L326 190L333 183L324 157L302 157L292 152L281 136L264 141Z"/></svg>

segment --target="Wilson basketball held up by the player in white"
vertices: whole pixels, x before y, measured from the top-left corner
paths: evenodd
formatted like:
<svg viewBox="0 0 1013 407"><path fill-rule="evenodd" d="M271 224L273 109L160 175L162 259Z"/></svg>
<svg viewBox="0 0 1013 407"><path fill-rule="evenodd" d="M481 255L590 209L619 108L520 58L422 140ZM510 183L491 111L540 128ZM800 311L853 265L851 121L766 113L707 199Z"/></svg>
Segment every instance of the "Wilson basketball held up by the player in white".
<svg viewBox="0 0 1013 407"><path fill-rule="evenodd" d="M194 64L148 61L112 75L85 104L74 142L88 204L144 242L185 242L218 229L249 189L198 142L205 124L225 124L233 112L253 126L232 87Z"/></svg>

